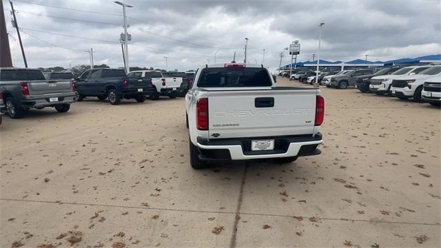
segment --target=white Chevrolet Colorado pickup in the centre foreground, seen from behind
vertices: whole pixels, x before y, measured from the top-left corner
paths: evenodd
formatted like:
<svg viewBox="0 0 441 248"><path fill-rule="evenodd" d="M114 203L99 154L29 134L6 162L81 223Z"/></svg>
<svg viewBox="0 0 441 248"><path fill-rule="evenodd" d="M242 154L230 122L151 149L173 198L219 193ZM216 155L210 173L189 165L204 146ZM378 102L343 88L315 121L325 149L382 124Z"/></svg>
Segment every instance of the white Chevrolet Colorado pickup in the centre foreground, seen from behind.
<svg viewBox="0 0 441 248"><path fill-rule="evenodd" d="M199 68L185 96L190 164L320 154L325 101L314 88L276 87L263 65Z"/></svg>

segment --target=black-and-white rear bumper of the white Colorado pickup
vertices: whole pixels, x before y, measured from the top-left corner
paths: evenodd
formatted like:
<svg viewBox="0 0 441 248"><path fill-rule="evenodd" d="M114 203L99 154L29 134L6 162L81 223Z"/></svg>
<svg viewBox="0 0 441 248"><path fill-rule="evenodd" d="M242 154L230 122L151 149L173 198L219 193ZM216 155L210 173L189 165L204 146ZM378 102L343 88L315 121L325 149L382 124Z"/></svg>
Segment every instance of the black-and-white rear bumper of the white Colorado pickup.
<svg viewBox="0 0 441 248"><path fill-rule="evenodd" d="M274 150L252 151L251 141L274 139ZM322 134L316 136L279 136L256 138L225 138L207 140L198 137L199 158L212 160L247 160L261 158L283 158L293 156L311 156L321 153L317 146L322 143Z"/></svg>

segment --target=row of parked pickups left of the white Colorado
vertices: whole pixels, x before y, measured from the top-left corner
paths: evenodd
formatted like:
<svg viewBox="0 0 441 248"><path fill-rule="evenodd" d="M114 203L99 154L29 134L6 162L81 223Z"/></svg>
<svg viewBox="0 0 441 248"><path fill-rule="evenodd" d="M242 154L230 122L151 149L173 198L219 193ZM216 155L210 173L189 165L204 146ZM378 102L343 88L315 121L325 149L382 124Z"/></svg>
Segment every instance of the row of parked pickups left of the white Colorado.
<svg viewBox="0 0 441 248"><path fill-rule="evenodd" d="M54 107L68 112L70 104L94 96L118 105L122 99L139 103L160 96L185 96L192 85L194 72L141 70L125 74L122 69L87 70L74 78L71 72L41 72L30 68L0 68L1 115L21 118L25 110Z"/></svg>

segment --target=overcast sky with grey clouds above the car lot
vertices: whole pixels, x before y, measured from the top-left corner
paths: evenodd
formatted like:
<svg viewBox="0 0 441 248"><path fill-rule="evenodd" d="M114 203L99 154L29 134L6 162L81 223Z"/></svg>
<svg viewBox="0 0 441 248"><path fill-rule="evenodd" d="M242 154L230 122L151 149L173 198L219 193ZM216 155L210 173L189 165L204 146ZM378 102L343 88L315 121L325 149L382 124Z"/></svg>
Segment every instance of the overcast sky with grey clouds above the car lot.
<svg viewBox="0 0 441 248"><path fill-rule="evenodd" d="M23 59L10 23L10 3L2 1L12 63L20 67ZM123 66L122 7L113 1L13 2L30 67L88 64L88 53L83 50L89 48L94 50L95 64ZM349 61L368 54L369 61L385 61L441 53L438 0L123 2L133 6L127 8L133 36L130 66L165 69L163 57L168 56L169 70L189 70L208 59L214 63L216 51L218 63L232 61L234 52L236 61L243 61L247 37L248 61L262 63L265 49L264 64L274 69L278 54L295 39L301 44L298 61L310 60L318 52L320 22L325 23L321 59ZM283 64L289 60L285 56Z"/></svg>

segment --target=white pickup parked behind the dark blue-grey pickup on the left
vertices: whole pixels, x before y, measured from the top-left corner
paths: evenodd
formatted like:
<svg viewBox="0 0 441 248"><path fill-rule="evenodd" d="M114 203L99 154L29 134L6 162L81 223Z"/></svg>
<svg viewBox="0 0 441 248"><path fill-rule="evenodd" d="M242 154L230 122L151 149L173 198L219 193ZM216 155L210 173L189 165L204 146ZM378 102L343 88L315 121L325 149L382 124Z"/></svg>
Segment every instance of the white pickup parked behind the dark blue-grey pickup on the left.
<svg viewBox="0 0 441 248"><path fill-rule="evenodd" d="M127 74L127 77L152 79L153 92L150 94L151 100L158 100L160 96L169 96L171 99L175 99L182 83L182 77L157 70L132 71Z"/></svg>

